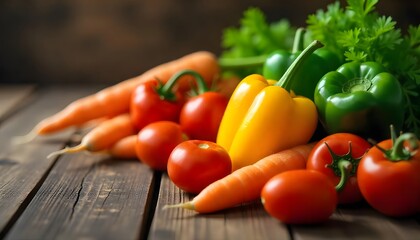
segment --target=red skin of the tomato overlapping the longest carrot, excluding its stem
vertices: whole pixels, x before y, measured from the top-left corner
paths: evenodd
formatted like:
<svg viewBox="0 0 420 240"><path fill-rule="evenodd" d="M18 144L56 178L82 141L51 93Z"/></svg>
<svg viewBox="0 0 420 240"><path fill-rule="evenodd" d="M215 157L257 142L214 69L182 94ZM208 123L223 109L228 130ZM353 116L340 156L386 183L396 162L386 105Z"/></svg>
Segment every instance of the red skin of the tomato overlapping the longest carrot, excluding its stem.
<svg viewBox="0 0 420 240"><path fill-rule="evenodd" d="M157 90L156 81L140 84L134 91L130 115L134 126L141 130L147 124L157 121L178 122L183 98L178 94L178 100L167 100Z"/></svg>

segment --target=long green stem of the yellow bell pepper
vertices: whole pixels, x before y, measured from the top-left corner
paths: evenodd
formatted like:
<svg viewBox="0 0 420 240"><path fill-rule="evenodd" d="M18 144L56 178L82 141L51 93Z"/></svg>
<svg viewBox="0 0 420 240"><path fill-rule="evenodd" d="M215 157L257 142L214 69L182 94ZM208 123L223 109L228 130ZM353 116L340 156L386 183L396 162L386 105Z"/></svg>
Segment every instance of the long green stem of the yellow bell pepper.
<svg viewBox="0 0 420 240"><path fill-rule="evenodd" d="M324 45L315 40L309 46L307 46L299 56L293 61L293 63L287 68L286 72L280 78L280 80L275 84L275 86L283 87L287 91L290 91L290 86L292 85L292 79L295 74L301 69L302 64L306 61L307 58L311 56L311 54L317 50L318 48L323 47Z"/></svg>

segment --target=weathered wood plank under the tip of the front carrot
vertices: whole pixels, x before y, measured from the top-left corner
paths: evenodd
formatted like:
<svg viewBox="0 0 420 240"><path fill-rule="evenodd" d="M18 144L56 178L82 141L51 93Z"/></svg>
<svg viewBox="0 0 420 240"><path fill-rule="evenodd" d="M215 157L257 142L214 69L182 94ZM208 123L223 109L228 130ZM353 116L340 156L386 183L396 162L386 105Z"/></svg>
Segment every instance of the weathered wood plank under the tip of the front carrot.
<svg viewBox="0 0 420 240"><path fill-rule="evenodd" d="M220 196L223 197L223 196ZM159 199L150 239L290 239L287 226L271 218L259 202L213 214L196 214L184 209L165 209L192 199L162 176Z"/></svg>

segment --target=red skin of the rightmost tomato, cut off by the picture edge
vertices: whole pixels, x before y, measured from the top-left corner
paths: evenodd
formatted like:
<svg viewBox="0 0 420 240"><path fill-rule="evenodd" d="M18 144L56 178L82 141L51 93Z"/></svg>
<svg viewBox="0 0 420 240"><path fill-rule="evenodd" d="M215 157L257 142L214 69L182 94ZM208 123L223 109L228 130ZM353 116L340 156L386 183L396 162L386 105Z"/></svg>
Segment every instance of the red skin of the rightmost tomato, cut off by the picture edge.
<svg viewBox="0 0 420 240"><path fill-rule="evenodd" d="M392 147L390 139L378 144ZM393 217L419 212L420 208L420 151L410 160L389 161L382 151L372 147L360 161L357 175L360 190L377 211Z"/></svg>

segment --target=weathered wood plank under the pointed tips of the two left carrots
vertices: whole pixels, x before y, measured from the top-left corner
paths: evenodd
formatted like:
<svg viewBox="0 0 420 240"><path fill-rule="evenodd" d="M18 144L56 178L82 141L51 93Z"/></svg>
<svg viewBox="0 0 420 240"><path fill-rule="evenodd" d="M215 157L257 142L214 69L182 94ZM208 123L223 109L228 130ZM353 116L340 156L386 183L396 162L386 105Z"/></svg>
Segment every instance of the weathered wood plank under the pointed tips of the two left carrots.
<svg viewBox="0 0 420 240"><path fill-rule="evenodd" d="M28 133L36 123L66 106L70 101L98 90L97 87L50 87L22 111L5 119L0 126L0 237L27 205L28 196L39 187L54 159L46 159L60 149L73 130L13 145L11 139Z"/></svg>

